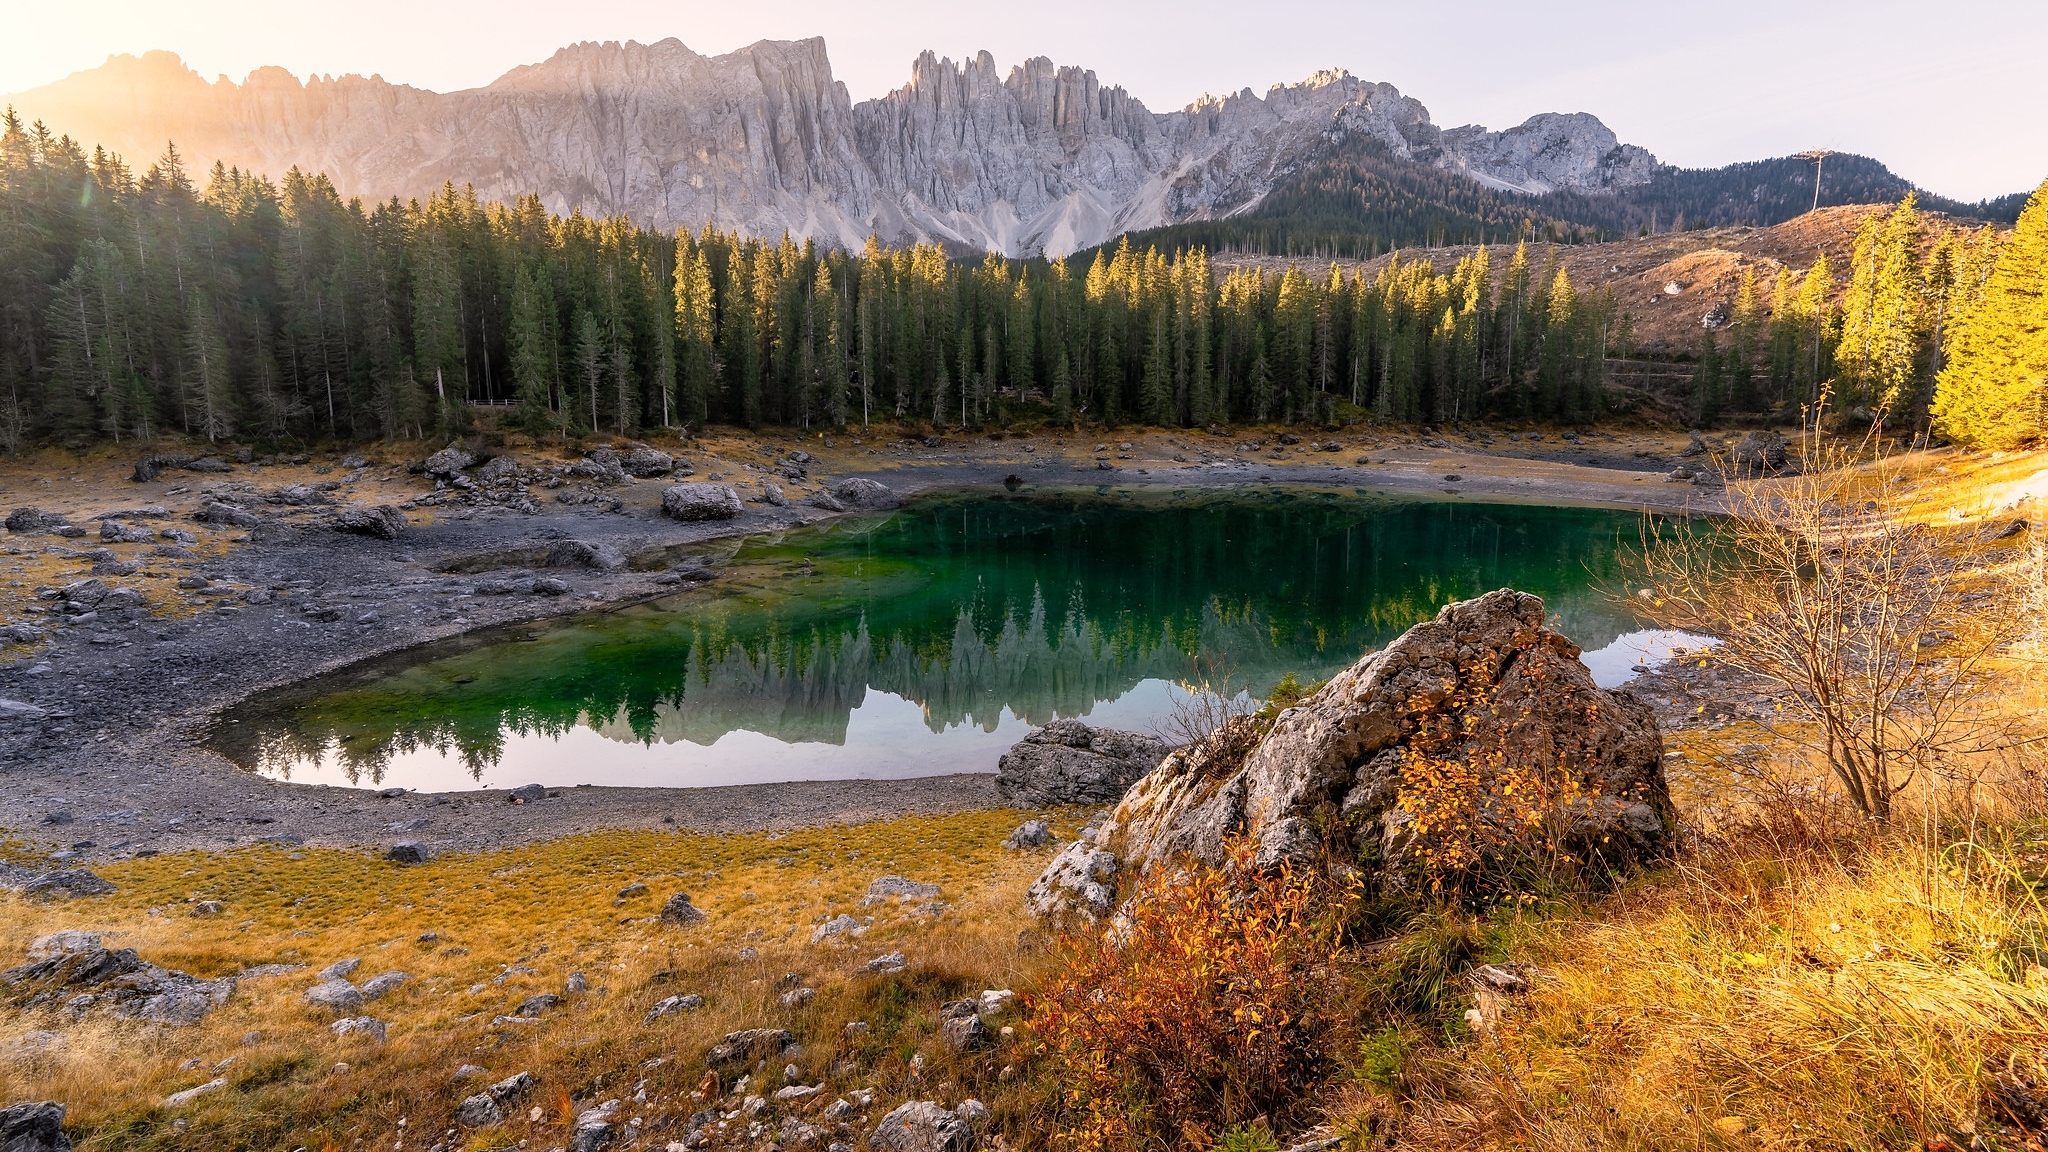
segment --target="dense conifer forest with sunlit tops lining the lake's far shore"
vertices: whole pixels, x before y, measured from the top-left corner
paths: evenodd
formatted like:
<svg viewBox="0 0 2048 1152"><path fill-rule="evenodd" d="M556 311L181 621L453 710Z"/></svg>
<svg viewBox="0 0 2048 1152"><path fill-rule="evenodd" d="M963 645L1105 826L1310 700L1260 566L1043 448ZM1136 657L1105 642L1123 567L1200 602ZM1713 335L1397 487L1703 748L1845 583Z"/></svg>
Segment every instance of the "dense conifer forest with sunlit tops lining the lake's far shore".
<svg viewBox="0 0 2048 1152"><path fill-rule="evenodd" d="M1493 223L1491 203L1470 207ZM1888 252L1913 248L1901 228L1919 217L1911 205L1894 215ZM1767 314L1763 287L1745 285L1729 351L1714 334L1702 348L1698 414L1796 408L1835 375L1843 340L1866 402L1925 410L1921 385L1946 367L1942 324L1960 328L1997 238L1942 252L1946 314L1929 312L1933 281L1911 252L1911 266L1872 281L1892 295L1862 314L1855 283L1847 312L1829 303L1825 260L1772 285ZM1968 283L1950 307L1958 275ZM1128 242L1073 262L971 262L872 240L844 252L668 236L455 187L424 203L344 201L299 170L195 178L172 148L135 172L12 115L0 131L8 451L166 430L424 439L465 428L473 404L563 437L1016 414L1583 422L1610 410L1608 361L1628 344L1610 293L1532 266L1520 246L1350 279L1219 273L1202 248Z"/></svg>

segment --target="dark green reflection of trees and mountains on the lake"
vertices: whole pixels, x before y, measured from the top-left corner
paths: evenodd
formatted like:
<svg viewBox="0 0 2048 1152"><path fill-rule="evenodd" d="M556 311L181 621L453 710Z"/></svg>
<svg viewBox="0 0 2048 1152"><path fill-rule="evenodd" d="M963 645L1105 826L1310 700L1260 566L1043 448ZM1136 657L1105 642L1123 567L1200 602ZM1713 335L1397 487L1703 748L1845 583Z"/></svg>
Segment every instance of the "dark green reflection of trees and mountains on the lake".
<svg viewBox="0 0 2048 1152"><path fill-rule="evenodd" d="M623 615L401 668L238 726L236 758L287 773L334 748L352 781L379 781L422 748L481 777L510 736L575 726L629 742L750 730L844 744L868 689L920 703L934 732L993 730L1006 707L1044 724L1147 678L1186 678L1196 656L1255 693L1286 672L1325 676L1501 584L1546 594L1565 631L1597 648L1620 625L1583 588L1624 521L1298 494L938 500L741 549L741 564L819 564L772 603Z"/></svg>

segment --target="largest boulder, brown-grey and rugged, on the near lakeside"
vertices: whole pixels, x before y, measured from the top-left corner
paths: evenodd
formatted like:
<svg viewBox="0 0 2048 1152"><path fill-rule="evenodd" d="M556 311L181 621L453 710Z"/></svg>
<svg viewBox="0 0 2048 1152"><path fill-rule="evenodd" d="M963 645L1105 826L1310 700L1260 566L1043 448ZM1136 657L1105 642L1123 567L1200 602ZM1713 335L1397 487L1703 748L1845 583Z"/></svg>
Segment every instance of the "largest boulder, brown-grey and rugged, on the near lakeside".
<svg viewBox="0 0 2048 1152"><path fill-rule="evenodd" d="M1055 857L1030 908L1102 916L1116 879L1182 857L1223 865L1235 836L1251 838L1264 867L1339 859L1399 883L1419 849L1403 769L1425 732L1440 734L1427 756L1475 773L1481 820L1507 812L1503 781L1546 773L1569 793L1561 834L1583 859L1645 859L1671 842L1649 705L1595 687L1579 646L1544 627L1542 601L1503 588L1446 605L1270 732L1237 719L1176 750L1124 793L1092 845Z"/></svg>

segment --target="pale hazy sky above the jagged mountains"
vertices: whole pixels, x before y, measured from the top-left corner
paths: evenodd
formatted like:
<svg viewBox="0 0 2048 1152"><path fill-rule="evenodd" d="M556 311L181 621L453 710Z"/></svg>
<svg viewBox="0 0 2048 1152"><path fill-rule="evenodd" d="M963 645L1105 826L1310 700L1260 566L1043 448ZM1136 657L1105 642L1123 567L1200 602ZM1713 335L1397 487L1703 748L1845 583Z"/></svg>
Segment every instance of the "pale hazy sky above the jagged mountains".
<svg viewBox="0 0 2048 1152"><path fill-rule="evenodd" d="M571 41L717 53L811 35L854 100L903 84L926 47L1079 64L1153 111L1348 68L1444 127L1585 111L1669 164L1833 148L1964 199L2048 178L2044 0L45 0L8 16L0 92L117 51L170 49L209 78L279 64L451 90Z"/></svg>

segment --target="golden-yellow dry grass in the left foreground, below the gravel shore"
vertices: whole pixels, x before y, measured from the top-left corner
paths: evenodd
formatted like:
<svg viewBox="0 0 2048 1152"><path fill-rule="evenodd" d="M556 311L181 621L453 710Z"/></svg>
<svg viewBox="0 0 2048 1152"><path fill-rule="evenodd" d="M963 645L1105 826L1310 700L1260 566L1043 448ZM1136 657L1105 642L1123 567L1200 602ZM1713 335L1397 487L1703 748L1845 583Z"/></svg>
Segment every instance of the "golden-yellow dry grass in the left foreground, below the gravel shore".
<svg viewBox="0 0 2048 1152"><path fill-rule="evenodd" d="M711 1043L743 1027L786 1027L805 1045L797 1080L829 1088L809 1113L872 1086L877 1109L911 1091L948 1103L979 1093L1001 1119L1016 1111L1001 1107L995 1080L1006 1050L952 1060L932 1029L942 1000L1030 982L1020 896L1044 853L999 847L1018 822L1016 812L975 812L788 834L600 832L416 867L313 849L111 865L102 871L121 888L115 896L0 904L0 953L18 957L41 933L96 929L109 947L135 947L205 978L256 963L307 968L244 982L225 1009L186 1029L98 1015L70 1023L55 1006L18 1013L0 1025L0 1050L10 1050L0 1097L70 1103L82 1150L367 1148L399 1138L426 1148L455 1127L465 1095L532 1072L539 1088L520 1113L502 1129L457 1134L463 1146L563 1144L575 1111L608 1099L627 1101L621 1121L639 1117L666 1142L682 1136L682 1117L707 1107L690 1093ZM944 912L858 908L879 875L940 883ZM647 892L618 898L629 883ZM688 929L655 922L674 892L688 892L709 918ZM195 918L199 900L223 900L225 912ZM858 941L811 945L813 922L827 912L874 922ZM743 959L743 947L758 957ZM903 951L909 968L887 978L858 972L887 951ZM330 1017L301 1002L313 972L344 957L362 959L358 982L381 972L414 978L365 1009L389 1021L383 1045L330 1035ZM588 994L567 996L539 1023L492 1023L524 996L561 994L571 972L584 974ZM817 998L782 1009L786 974ZM641 1023L655 1000L690 992L707 998L700 1011ZM848 1037L852 1019L870 1031ZM25 1058L20 1037L35 1029L63 1039ZM920 1052L930 1064L913 1080ZM489 1078L455 1082L463 1064L487 1068ZM162 1105L215 1076L227 1086L180 1109ZM782 1082L780 1066L766 1068L748 1091ZM537 1119L526 1107L541 1109Z"/></svg>

